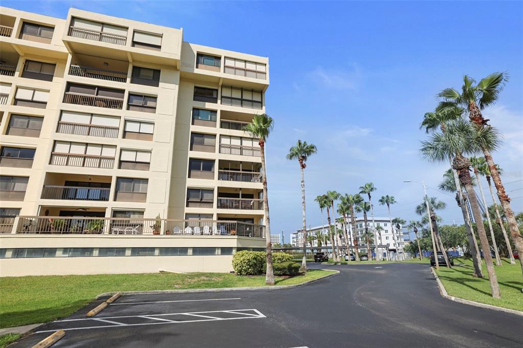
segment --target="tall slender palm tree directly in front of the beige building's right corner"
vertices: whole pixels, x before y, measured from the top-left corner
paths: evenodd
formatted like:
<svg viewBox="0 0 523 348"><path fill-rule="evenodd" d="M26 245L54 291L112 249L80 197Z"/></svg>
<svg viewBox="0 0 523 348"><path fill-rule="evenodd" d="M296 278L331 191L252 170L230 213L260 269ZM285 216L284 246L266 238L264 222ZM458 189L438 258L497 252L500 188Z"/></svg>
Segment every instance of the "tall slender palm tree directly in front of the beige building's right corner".
<svg viewBox="0 0 523 348"><path fill-rule="evenodd" d="M270 218L269 218L269 200L267 198L267 173L265 166L265 142L269 137L272 128L274 127L274 120L267 115L254 115L253 121L243 127L245 132L251 134L253 138L258 138L260 146L261 157L261 182L263 183L263 207L266 219L265 238L267 240L267 270L265 273L265 283L267 285L274 285L274 272L272 271L272 243L270 242Z"/></svg>

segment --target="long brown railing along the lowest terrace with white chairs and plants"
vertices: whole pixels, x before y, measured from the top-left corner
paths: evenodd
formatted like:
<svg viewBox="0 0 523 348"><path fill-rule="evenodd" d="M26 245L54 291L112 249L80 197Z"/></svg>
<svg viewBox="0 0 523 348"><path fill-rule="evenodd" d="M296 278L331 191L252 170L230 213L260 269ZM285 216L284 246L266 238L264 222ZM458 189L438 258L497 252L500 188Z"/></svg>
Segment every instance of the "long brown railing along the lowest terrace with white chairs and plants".
<svg viewBox="0 0 523 348"><path fill-rule="evenodd" d="M104 234L265 237L265 226L237 221L118 217L20 216L19 234Z"/></svg>

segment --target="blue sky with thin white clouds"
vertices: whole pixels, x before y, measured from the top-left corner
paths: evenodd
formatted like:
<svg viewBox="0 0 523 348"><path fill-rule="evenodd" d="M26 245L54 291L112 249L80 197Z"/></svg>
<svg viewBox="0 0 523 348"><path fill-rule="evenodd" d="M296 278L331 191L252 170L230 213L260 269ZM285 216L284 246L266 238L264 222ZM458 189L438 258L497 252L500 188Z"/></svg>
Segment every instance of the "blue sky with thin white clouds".
<svg viewBox="0 0 523 348"><path fill-rule="evenodd" d="M425 180L437 188L445 164L418 154L423 114L436 93L461 87L468 74L507 71L496 106L484 112L504 134L494 160L515 211L523 211L522 2L146 2L7 1L2 6L65 18L69 7L184 28L186 41L268 56L267 144L273 233L301 225L299 167L285 159L298 139L318 154L306 168L308 225L321 223L313 199L327 190L356 193L373 182L374 198L394 195L393 215L418 218ZM483 181L486 187L486 182ZM462 222L453 196L445 223ZM491 199L487 198L489 203ZM376 216L386 210L375 205Z"/></svg>

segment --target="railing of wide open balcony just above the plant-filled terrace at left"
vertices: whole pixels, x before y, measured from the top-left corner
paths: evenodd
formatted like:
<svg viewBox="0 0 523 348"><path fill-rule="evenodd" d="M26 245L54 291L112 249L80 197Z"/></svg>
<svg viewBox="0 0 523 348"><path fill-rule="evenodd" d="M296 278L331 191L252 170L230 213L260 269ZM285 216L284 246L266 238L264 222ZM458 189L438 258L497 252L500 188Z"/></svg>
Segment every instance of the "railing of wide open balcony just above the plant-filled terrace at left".
<svg viewBox="0 0 523 348"><path fill-rule="evenodd" d="M44 185L42 199L75 201L109 201L109 188Z"/></svg>

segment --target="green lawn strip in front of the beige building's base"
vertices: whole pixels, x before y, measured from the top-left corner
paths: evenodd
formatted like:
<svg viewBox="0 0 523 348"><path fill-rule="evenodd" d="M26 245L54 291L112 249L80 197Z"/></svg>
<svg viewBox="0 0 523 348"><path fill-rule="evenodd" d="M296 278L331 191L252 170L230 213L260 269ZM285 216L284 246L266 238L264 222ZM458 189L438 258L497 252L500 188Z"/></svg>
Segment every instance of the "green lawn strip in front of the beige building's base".
<svg viewBox="0 0 523 348"><path fill-rule="evenodd" d="M310 270L305 275L276 277L292 285L335 273ZM265 286L265 276L231 273L144 273L3 277L0 279L0 327L47 322L71 315L97 295L118 291Z"/></svg>

